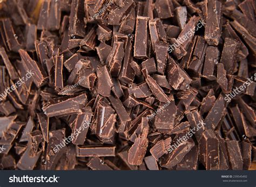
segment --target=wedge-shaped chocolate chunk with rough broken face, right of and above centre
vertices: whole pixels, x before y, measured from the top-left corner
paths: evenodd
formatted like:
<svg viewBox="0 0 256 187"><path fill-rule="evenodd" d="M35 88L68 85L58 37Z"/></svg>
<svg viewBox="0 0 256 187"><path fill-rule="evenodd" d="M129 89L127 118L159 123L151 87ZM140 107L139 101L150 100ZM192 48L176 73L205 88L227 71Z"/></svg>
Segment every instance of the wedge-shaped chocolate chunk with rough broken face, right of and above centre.
<svg viewBox="0 0 256 187"><path fill-rule="evenodd" d="M192 81L187 73L172 58L169 58L167 72L167 80L173 89L186 89L187 85L190 85Z"/></svg>

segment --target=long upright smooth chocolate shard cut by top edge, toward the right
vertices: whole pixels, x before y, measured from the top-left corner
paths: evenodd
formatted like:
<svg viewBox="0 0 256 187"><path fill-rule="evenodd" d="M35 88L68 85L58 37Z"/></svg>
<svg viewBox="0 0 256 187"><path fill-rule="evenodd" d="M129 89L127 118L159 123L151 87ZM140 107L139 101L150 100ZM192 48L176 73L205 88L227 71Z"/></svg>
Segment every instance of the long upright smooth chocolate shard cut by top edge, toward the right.
<svg viewBox="0 0 256 187"><path fill-rule="evenodd" d="M207 17L205 39L209 45L218 45L221 36L221 3L216 0L207 1Z"/></svg>

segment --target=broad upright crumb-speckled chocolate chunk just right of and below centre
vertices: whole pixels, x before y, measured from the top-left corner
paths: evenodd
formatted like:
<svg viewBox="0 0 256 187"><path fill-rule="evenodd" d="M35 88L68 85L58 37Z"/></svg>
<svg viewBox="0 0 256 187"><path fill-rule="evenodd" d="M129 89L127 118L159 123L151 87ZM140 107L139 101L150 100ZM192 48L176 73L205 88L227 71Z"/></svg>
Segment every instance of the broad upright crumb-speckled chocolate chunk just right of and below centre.
<svg viewBox="0 0 256 187"><path fill-rule="evenodd" d="M160 132L170 132L174 126L174 119L177 114L177 107L174 101L161 103L156 111L154 125Z"/></svg>

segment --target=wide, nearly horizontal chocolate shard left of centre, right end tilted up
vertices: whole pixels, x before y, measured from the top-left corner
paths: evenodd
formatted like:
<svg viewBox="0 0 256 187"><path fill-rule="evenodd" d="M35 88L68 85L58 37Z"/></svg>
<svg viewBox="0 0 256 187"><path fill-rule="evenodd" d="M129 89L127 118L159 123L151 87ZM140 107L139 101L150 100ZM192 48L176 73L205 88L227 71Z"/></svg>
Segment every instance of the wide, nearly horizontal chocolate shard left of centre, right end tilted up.
<svg viewBox="0 0 256 187"><path fill-rule="evenodd" d="M86 94L75 95L73 97L64 96L62 98L51 99L45 103L43 110L46 116L70 115L78 112L87 103Z"/></svg>

